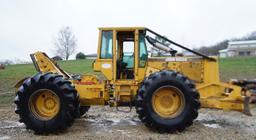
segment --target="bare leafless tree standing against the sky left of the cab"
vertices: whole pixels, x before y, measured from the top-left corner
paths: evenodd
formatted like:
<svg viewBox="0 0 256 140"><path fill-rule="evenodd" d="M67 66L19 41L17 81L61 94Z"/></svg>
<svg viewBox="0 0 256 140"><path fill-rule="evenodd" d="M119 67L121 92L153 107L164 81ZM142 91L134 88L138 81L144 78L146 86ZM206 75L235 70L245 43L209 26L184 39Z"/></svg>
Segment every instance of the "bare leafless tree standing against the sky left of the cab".
<svg viewBox="0 0 256 140"><path fill-rule="evenodd" d="M64 27L59 32L54 41L55 53L63 59L68 60L76 50L77 40L70 27Z"/></svg>

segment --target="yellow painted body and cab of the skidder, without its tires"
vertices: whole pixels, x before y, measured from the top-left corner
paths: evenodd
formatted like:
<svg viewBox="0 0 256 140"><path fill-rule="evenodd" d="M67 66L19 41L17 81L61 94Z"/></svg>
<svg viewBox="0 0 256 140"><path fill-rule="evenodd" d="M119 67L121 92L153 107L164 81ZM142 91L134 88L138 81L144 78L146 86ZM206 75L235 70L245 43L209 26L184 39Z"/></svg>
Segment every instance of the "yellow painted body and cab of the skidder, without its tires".
<svg viewBox="0 0 256 140"><path fill-rule="evenodd" d="M79 80L73 79L42 52L32 54L33 61L40 72L58 73L70 79L79 93L82 106L132 106L137 90L145 78L157 71L173 70L196 83L202 107L236 110L248 114L248 103L245 99L250 98L251 94L240 86L220 81L217 58L173 56L144 59L145 55L148 56L148 51L146 50L145 55L141 54L145 48L141 44L140 37L146 29L144 27L99 28L98 56L93 63L93 69L104 76L101 79L96 75L87 74L82 75ZM108 46L112 47L109 51L111 55L107 57L103 55L103 52L108 51L102 49L106 40L103 36L111 36L111 42L108 42ZM120 73L118 59L124 58L125 46L122 45L125 44L124 42L132 42L133 58L131 59L134 61L131 69ZM132 76L127 76L127 73L132 73L130 74Z"/></svg>

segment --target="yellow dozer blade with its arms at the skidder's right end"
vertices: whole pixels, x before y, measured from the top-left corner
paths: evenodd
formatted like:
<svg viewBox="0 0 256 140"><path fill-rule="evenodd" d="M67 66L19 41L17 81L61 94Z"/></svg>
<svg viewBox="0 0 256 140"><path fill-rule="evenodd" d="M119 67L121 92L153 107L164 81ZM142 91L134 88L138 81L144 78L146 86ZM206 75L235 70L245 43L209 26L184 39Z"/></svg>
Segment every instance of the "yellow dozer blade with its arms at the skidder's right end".
<svg viewBox="0 0 256 140"><path fill-rule="evenodd" d="M234 83L210 83L198 86L198 90L203 108L235 110L252 116L250 108L256 105L253 104L256 102L256 93L252 89Z"/></svg>

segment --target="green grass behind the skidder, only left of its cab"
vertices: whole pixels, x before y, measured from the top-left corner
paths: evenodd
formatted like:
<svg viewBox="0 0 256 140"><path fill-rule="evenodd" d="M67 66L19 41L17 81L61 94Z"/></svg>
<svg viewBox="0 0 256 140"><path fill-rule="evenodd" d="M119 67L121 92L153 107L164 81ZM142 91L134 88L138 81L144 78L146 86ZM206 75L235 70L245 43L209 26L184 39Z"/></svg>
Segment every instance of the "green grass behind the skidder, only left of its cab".
<svg viewBox="0 0 256 140"><path fill-rule="evenodd" d="M58 64L70 73L91 73L93 60L60 61ZM10 103L14 96L14 85L24 77L36 74L33 64L17 64L6 66L0 70L0 104Z"/></svg>

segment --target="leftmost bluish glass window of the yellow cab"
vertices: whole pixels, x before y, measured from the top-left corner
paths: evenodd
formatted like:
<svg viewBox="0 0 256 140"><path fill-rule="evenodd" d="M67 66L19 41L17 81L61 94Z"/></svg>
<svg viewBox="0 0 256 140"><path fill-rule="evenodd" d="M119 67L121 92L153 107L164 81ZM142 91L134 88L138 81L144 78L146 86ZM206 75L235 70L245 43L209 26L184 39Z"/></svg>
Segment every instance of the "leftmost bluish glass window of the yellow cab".
<svg viewBox="0 0 256 140"><path fill-rule="evenodd" d="M112 59L113 57L113 33L112 31L102 31L100 58Z"/></svg>

